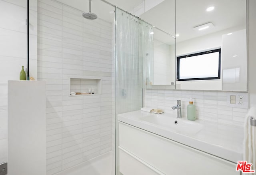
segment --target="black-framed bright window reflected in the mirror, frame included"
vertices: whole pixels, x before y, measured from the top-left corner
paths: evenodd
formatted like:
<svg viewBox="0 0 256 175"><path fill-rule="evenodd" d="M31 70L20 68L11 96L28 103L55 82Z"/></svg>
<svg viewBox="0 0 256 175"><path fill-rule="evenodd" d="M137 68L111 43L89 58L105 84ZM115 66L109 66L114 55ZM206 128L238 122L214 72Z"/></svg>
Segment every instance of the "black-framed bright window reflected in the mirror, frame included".
<svg viewBox="0 0 256 175"><path fill-rule="evenodd" d="M220 49L177 57L177 81L220 79Z"/></svg>

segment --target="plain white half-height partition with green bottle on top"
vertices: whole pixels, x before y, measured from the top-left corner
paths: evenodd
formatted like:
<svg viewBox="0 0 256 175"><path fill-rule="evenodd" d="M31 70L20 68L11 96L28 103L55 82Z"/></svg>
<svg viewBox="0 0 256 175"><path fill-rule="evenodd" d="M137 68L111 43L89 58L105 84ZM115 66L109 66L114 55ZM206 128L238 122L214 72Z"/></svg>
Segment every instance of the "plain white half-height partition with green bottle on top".
<svg viewBox="0 0 256 175"><path fill-rule="evenodd" d="M8 175L46 175L46 82L8 81Z"/></svg>

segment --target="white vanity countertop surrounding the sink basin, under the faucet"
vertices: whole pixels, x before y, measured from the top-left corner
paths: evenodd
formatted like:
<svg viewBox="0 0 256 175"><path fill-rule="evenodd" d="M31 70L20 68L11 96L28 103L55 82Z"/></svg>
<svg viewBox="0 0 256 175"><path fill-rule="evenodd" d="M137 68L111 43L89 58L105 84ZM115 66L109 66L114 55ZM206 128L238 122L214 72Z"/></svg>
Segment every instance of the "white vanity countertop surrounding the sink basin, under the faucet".
<svg viewBox="0 0 256 175"><path fill-rule="evenodd" d="M243 127L220 125L214 122L196 120L192 122L202 123L204 126L203 129L197 133L183 133L141 119L142 117L152 114L153 113L144 111L122 113L118 114L118 121L161 135L234 163L242 160ZM173 114L168 113L154 115L165 115L167 117L176 118ZM182 120L187 119L182 118Z"/></svg>

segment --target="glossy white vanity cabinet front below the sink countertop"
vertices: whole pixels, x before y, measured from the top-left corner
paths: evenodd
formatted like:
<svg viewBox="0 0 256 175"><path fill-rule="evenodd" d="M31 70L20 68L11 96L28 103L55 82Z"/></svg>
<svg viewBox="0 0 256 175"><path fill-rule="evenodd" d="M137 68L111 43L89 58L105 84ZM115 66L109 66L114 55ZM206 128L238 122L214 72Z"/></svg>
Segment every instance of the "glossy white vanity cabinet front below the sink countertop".
<svg viewBox="0 0 256 175"><path fill-rule="evenodd" d="M119 121L124 175L240 175L236 163Z"/></svg>

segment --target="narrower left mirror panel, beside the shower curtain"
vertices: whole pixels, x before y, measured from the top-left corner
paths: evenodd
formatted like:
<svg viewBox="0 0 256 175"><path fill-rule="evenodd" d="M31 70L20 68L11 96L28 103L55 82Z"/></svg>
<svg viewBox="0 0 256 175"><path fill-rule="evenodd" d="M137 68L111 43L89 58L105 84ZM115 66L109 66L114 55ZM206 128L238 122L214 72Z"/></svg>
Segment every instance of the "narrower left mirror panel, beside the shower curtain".
<svg viewBox="0 0 256 175"><path fill-rule="evenodd" d="M175 0L164 0L140 15L156 26L154 39L154 78L152 88L175 89Z"/></svg>

